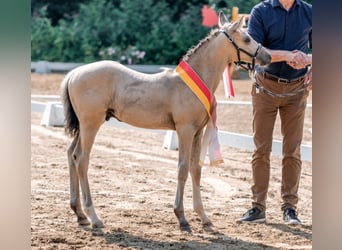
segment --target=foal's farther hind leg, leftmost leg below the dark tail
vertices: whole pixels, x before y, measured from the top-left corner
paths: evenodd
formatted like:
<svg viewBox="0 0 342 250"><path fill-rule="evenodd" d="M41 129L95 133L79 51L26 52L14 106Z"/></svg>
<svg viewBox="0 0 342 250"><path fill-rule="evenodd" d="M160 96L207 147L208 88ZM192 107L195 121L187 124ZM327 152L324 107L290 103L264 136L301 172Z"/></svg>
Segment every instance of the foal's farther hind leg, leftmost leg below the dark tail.
<svg viewBox="0 0 342 250"><path fill-rule="evenodd" d="M89 225L87 216L83 213L80 202L80 190L77 169L75 160L73 159L73 153L75 151L76 144L79 142L78 135L73 139L68 148L68 162L69 162L69 175L70 175L70 207L77 216L77 222L79 225Z"/></svg>

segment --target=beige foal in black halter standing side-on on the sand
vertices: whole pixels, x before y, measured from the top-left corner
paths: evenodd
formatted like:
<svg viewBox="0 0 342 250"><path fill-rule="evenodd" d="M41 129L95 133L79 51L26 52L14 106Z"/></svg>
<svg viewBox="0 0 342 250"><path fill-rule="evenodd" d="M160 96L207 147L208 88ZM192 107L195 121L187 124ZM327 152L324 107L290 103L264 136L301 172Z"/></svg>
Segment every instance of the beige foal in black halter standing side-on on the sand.
<svg viewBox="0 0 342 250"><path fill-rule="evenodd" d="M210 93L215 92L229 62L265 65L271 60L267 50L242 30L242 19L230 23L222 12L218 19L218 28L212 29L183 56ZM193 209L203 226L213 225L203 208L199 164L202 132L210 113L175 69L145 74L115 61L97 61L68 72L61 83L61 92L65 133L73 138L67 148L70 207L79 225L104 227L95 212L87 172L96 134L112 117L136 127L176 131L178 182L173 210L179 226L190 228L183 206L189 172ZM212 95L211 102L213 98Z"/></svg>

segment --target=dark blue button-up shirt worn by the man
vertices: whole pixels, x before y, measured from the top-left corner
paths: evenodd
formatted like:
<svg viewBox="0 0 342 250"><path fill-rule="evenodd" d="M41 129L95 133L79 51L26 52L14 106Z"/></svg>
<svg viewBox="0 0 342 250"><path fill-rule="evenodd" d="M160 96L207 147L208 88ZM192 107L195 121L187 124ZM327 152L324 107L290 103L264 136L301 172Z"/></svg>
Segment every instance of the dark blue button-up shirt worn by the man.
<svg viewBox="0 0 342 250"><path fill-rule="evenodd" d="M300 50L308 52L312 32L312 5L296 0L289 11L278 0L266 0L251 11L248 33L258 43L271 50ZM311 41L310 41L311 42ZM307 69L296 70L286 62L263 67L270 74L294 79Z"/></svg>

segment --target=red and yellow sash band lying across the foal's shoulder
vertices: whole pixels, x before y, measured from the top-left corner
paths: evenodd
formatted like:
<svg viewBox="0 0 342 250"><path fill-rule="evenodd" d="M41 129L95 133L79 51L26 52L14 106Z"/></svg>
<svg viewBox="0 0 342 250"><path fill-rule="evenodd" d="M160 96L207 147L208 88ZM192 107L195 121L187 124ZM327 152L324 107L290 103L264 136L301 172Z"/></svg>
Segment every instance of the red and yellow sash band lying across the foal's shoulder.
<svg viewBox="0 0 342 250"><path fill-rule="evenodd" d="M186 83L186 85L192 90L192 92L198 97L203 103L205 109L210 115L210 101L211 93L207 85L197 75L197 73L191 68L191 66L184 60L182 60L176 67L176 72Z"/></svg>

